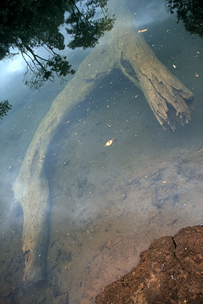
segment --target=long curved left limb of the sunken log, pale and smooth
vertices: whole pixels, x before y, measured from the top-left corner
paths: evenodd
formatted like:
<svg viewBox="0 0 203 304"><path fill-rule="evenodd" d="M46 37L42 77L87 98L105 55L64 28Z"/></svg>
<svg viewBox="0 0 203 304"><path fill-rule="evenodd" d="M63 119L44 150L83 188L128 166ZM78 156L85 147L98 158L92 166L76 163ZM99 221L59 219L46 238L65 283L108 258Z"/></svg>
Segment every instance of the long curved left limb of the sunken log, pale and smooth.
<svg viewBox="0 0 203 304"><path fill-rule="evenodd" d="M108 48L110 55L110 48ZM100 58L100 62L98 62ZM26 255L24 281L43 281L48 248L49 188L43 169L48 145L60 125L77 103L110 73L113 54L95 48L80 64L74 78L53 101L28 147L14 182L14 197L24 211L23 251Z"/></svg>

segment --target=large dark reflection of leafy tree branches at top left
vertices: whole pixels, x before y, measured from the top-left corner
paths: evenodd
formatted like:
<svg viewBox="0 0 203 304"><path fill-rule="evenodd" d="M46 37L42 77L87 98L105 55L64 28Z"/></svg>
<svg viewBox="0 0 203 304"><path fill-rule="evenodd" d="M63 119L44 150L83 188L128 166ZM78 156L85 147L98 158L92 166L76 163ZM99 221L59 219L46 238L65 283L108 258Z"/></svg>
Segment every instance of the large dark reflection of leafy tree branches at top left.
<svg viewBox="0 0 203 304"><path fill-rule="evenodd" d="M61 25L71 34L70 48L93 47L113 19L105 8L108 0L2 0L0 2L0 60L21 53L27 64L25 83L40 88L46 80L61 80L74 73L66 56ZM97 8L103 18L94 19ZM66 13L66 14L65 14ZM48 56L39 56L43 47ZM42 52L41 52L42 53ZM45 58L44 58L45 57Z"/></svg>

